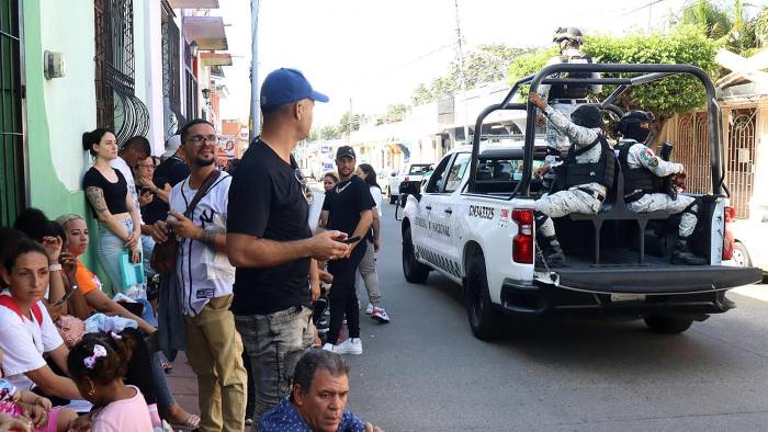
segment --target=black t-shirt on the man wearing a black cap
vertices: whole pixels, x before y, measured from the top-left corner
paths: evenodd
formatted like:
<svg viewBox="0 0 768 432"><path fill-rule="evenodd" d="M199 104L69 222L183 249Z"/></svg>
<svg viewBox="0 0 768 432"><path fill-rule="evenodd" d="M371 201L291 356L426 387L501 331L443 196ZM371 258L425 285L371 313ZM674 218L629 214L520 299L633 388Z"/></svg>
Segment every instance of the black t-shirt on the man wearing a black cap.
<svg viewBox="0 0 768 432"><path fill-rule="evenodd" d="M360 223L360 212L370 211L375 203L371 190L357 175L346 182L337 183L330 193L326 194L323 211L328 212L326 228L336 229L352 236Z"/></svg>

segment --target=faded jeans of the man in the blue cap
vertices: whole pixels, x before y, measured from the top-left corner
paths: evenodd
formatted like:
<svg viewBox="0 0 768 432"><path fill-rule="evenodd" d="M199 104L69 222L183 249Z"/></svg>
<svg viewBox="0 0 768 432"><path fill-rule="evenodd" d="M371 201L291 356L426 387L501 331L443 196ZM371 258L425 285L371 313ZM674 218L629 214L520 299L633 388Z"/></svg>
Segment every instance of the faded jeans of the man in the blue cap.
<svg viewBox="0 0 768 432"><path fill-rule="evenodd" d="M293 370L312 346L312 309L292 307L270 315L240 315L235 326L250 357L256 387L253 431L261 414L291 393ZM245 402L245 400L244 400Z"/></svg>

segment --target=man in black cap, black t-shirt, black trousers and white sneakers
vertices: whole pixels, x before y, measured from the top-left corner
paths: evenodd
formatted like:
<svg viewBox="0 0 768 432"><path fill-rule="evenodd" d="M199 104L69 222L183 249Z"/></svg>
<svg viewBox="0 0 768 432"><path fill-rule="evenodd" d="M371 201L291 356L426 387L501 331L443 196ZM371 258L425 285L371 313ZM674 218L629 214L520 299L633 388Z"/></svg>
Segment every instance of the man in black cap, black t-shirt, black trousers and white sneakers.
<svg viewBox="0 0 768 432"><path fill-rule="evenodd" d="M360 341L360 310L358 295L354 289L354 276L358 265L365 254L368 241L365 236L373 223L371 208L375 205L368 184L354 174L357 160L352 147L339 147L336 152L336 167L339 171L339 182L326 194L320 213L320 226L347 232L350 238L357 238L351 252L342 260L328 263L328 271L334 275L330 287L330 326L328 339L323 349L339 354L362 354L363 344ZM347 316L349 338L336 344L341 330L341 322Z"/></svg>

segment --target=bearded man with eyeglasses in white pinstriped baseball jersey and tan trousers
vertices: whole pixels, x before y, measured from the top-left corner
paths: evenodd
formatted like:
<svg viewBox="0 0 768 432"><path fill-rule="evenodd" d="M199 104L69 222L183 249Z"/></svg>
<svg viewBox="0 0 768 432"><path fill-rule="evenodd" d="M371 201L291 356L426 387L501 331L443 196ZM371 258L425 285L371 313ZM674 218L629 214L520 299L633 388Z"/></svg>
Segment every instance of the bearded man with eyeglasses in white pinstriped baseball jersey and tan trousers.
<svg viewBox="0 0 768 432"><path fill-rule="evenodd" d="M200 430L242 431L247 374L242 341L229 310L235 268L226 255L231 177L214 163L218 139L211 123L193 120L180 135L191 174L173 186L168 220L157 223L163 237L158 241L180 239L176 283L168 289L182 300L187 357L197 376Z"/></svg>

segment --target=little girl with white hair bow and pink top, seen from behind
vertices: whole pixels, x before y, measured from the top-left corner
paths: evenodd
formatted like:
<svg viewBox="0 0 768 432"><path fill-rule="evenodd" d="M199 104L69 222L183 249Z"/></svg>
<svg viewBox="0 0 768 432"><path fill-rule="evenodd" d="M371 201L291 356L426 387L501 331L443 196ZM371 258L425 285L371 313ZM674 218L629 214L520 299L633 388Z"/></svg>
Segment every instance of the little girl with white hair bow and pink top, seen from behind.
<svg viewBox="0 0 768 432"><path fill-rule="evenodd" d="M80 393L94 405L93 432L153 430L149 408L137 387L123 384L135 340L88 333L69 352L67 365Z"/></svg>

